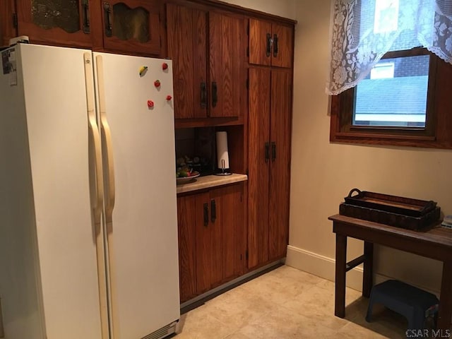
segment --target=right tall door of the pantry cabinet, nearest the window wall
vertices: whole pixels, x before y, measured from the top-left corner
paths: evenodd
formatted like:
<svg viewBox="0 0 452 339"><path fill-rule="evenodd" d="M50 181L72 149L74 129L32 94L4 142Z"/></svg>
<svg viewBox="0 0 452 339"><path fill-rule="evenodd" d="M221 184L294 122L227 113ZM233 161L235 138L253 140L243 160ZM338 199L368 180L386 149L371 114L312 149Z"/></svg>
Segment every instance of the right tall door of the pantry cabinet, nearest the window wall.
<svg viewBox="0 0 452 339"><path fill-rule="evenodd" d="M290 135L292 130L292 75L271 71L270 107L270 207L268 257L285 256L289 239Z"/></svg>

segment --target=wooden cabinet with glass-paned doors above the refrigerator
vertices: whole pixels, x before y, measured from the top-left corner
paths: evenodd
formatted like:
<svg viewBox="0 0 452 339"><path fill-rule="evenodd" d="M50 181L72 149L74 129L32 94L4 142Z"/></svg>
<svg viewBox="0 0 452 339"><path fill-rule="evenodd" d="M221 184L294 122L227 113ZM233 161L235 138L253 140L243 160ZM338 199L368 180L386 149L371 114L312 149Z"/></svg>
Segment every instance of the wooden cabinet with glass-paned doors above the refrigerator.
<svg viewBox="0 0 452 339"><path fill-rule="evenodd" d="M8 21L3 31L9 37L28 35L30 42L36 44L160 54L161 1L16 0L16 6L13 3L5 0L1 5L1 16ZM6 40L5 36L4 44Z"/></svg>

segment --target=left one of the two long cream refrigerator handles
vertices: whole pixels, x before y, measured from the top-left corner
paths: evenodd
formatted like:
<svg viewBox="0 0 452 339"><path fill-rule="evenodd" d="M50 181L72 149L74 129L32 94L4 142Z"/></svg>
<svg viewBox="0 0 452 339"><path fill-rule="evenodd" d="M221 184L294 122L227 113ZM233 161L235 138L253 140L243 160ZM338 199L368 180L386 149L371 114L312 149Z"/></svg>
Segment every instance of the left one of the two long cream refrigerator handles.
<svg viewBox="0 0 452 339"><path fill-rule="evenodd" d="M85 88L86 88L86 107L88 114L88 126L90 129L90 138L93 141L94 150L94 170L93 186L95 186L95 196L92 197L93 213L95 224L100 224L100 216L102 215L103 198L104 198L104 186L102 179L102 150L100 149L100 135L99 128L97 127L96 114L95 114L95 100L94 100L94 81L93 81L93 63L91 60L91 54L83 54L85 61Z"/></svg>

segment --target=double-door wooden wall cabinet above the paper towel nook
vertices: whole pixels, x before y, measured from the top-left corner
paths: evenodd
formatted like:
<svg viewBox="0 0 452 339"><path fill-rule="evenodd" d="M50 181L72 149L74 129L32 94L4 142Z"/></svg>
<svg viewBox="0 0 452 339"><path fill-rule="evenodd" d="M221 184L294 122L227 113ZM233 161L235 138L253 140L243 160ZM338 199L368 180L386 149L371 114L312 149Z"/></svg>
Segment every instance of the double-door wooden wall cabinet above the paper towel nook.
<svg viewBox="0 0 452 339"><path fill-rule="evenodd" d="M246 99L246 30L240 16L167 4L176 119L239 117Z"/></svg>

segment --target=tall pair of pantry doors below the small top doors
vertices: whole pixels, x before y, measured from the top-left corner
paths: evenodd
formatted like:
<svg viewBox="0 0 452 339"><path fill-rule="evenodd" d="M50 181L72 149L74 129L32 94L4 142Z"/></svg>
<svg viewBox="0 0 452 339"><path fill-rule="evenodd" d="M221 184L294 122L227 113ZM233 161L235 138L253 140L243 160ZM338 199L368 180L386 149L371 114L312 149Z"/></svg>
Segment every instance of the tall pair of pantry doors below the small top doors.
<svg viewBox="0 0 452 339"><path fill-rule="evenodd" d="M249 69L248 267L286 255L292 70Z"/></svg>

